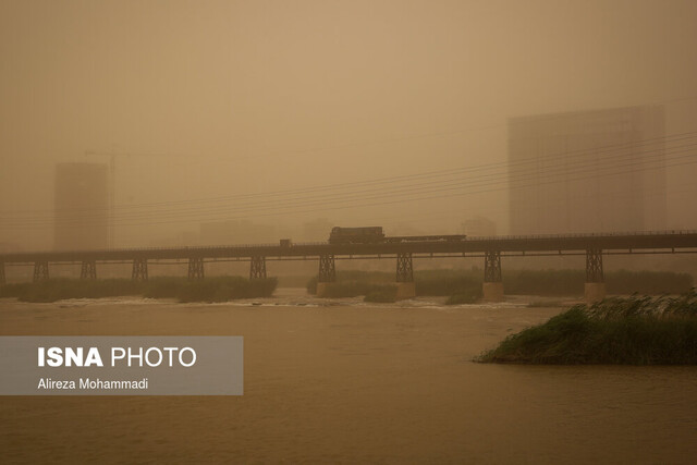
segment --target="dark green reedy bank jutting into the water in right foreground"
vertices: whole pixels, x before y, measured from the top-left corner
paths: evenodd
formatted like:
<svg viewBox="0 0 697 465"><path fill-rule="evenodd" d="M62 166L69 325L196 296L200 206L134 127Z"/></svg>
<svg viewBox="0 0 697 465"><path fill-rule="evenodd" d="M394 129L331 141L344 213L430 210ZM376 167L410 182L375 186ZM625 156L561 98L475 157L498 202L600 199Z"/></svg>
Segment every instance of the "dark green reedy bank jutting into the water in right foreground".
<svg viewBox="0 0 697 465"><path fill-rule="evenodd" d="M697 294L609 298L576 305L506 338L484 363L697 364Z"/></svg>

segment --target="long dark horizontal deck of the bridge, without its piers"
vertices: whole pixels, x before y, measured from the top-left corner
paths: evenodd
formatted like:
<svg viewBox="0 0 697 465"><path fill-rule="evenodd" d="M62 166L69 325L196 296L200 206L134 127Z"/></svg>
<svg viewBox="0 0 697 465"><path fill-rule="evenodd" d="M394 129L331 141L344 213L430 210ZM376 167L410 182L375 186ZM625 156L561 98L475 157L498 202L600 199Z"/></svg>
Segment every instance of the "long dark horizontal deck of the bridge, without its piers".
<svg viewBox="0 0 697 465"><path fill-rule="evenodd" d="M486 252L559 254L580 253L588 249L624 250L625 253L689 252L697 248L697 231L664 231L616 234L566 234L498 237L467 237L462 241L414 241L378 244L301 243L291 246L276 244L229 245L171 248L120 248L105 250L58 250L0 254L0 262L29 264L36 261L118 261L134 259L189 258L317 258L320 255L378 257L400 253L412 254L484 254Z"/></svg>

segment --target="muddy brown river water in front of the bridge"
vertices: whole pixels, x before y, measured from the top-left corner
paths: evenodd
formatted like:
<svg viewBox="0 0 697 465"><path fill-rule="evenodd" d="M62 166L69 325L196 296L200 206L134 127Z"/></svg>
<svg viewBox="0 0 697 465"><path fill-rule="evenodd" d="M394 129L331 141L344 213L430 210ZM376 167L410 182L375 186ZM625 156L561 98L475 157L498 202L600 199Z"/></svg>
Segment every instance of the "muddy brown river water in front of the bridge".
<svg viewBox="0 0 697 465"><path fill-rule="evenodd" d="M244 336L243 396L2 396L5 463L695 463L697 367L470 359L560 307L0 301L0 334Z"/></svg>

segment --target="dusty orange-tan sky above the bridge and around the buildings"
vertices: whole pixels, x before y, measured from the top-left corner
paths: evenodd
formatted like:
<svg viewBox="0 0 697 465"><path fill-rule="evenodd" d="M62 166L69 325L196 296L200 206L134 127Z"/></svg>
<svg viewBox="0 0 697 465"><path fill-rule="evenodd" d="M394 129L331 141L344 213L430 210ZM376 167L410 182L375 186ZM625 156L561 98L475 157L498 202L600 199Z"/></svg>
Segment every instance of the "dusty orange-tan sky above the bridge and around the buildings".
<svg viewBox="0 0 697 465"><path fill-rule="evenodd" d="M51 247L56 163L109 161L86 151L135 154L117 245L240 219L505 234L508 119L661 103L696 132L694 24L693 1L2 1L0 243ZM695 162L667 169L669 228L697 228Z"/></svg>

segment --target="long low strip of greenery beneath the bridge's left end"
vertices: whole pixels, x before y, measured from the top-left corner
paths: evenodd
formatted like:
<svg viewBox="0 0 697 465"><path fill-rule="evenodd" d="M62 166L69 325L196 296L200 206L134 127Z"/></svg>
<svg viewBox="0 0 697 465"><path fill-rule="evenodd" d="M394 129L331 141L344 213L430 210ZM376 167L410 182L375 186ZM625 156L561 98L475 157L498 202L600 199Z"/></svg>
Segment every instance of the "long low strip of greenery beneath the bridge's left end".
<svg viewBox="0 0 697 465"><path fill-rule="evenodd" d="M159 277L144 282L129 279L51 279L36 283L2 285L0 297L16 297L22 302L56 302L65 298L137 295L176 298L180 302L225 302L233 298L269 297L273 294L276 285L276 278L248 280L242 277L215 277L196 281Z"/></svg>

